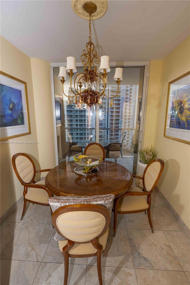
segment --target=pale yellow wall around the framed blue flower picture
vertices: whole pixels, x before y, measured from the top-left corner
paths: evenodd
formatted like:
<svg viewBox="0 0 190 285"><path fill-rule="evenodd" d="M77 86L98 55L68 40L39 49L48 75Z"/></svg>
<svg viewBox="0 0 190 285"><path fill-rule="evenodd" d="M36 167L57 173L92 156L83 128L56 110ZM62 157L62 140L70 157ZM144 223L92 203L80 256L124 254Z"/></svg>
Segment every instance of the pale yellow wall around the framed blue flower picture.
<svg viewBox="0 0 190 285"><path fill-rule="evenodd" d="M1 37L1 71L27 82L31 134L8 141L37 141L34 109L34 95L30 58ZM37 144L0 144L1 147L1 216L18 201L23 194L23 186L12 168L13 154L25 152L39 161Z"/></svg>

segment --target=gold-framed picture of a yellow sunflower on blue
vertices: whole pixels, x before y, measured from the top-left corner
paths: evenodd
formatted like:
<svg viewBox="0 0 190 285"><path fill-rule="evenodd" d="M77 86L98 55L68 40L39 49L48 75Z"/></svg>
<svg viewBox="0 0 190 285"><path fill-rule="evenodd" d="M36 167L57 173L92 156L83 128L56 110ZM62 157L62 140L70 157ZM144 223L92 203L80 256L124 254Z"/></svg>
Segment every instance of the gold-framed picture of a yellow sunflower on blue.
<svg viewBox="0 0 190 285"><path fill-rule="evenodd" d="M190 71L168 83L164 137L190 144Z"/></svg>

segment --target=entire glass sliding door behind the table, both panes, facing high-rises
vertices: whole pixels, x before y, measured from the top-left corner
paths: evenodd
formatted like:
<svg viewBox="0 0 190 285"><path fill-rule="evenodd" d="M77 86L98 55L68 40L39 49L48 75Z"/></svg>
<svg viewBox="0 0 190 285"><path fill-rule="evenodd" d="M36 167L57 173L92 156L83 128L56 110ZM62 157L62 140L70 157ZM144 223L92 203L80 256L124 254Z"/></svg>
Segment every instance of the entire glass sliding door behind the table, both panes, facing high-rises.
<svg viewBox="0 0 190 285"><path fill-rule="evenodd" d="M78 73L82 71L83 67L77 67ZM113 80L114 72L115 68L111 67L107 76L105 95L109 97L114 97L117 93L118 87ZM144 67L123 67L123 80L119 85L118 96L113 99L104 96L102 106L91 107L80 104L78 100L75 100L75 96L68 99L63 95L58 73L59 67L54 67L55 96L62 98L60 105L62 124L56 127L59 163L68 159L73 160L74 155L81 153L81 148L74 147L76 151L72 153L70 150L72 145L77 146L78 143L84 141L85 143L96 141L103 145L120 143L122 145L121 156L117 159L117 163L124 165L135 174L137 164L135 152L139 145L142 113ZM69 84L69 80L64 83L64 90L66 94L72 95ZM97 83L97 90L98 88L101 91L102 87L99 83ZM136 148L134 148L135 143ZM106 159L115 161L109 156Z"/></svg>

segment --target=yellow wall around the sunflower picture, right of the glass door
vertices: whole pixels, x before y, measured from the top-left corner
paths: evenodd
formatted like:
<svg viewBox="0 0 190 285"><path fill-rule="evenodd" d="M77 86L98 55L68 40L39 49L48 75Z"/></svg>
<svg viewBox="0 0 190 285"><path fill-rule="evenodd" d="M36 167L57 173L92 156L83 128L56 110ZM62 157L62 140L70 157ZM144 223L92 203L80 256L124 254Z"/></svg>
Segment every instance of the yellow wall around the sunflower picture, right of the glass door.
<svg viewBox="0 0 190 285"><path fill-rule="evenodd" d="M150 69L150 79L156 74L157 77L155 76L155 83L153 80L149 81L148 102L150 104L148 103L146 110L148 113L146 118L149 117L149 119L146 119L144 146L148 145L150 139L158 150L158 157L164 160L164 172L158 187L190 229L190 145L164 137L168 82L190 70L189 50L188 37L162 61L162 69L161 62L151 61L151 66L154 68ZM158 85L159 78L160 84ZM154 85L155 99L152 98L154 92L151 92L154 90ZM153 112L156 104L155 124L155 116L153 116L152 123L149 114Z"/></svg>

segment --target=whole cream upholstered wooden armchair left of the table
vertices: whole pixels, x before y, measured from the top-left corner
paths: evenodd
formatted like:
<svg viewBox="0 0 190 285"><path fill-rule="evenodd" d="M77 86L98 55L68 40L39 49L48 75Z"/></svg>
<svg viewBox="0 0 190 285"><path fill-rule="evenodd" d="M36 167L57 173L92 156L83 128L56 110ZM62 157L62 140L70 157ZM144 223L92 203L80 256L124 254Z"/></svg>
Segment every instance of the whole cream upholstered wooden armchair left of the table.
<svg viewBox="0 0 190 285"><path fill-rule="evenodd" d="M47 199L53 197L53 194L46 188L45 180L36 182L34 179L37 172L47 172L51 169L36 170L33 160L26 153L14 154L12 156L12 166L18 180L24 186L24 207L21 220L24 217L27 202L50 206Z"/></svg>

